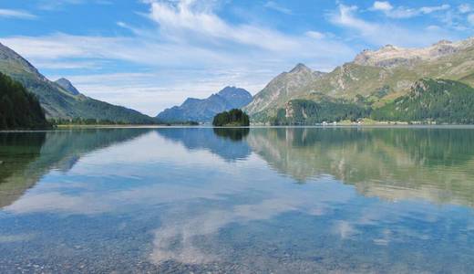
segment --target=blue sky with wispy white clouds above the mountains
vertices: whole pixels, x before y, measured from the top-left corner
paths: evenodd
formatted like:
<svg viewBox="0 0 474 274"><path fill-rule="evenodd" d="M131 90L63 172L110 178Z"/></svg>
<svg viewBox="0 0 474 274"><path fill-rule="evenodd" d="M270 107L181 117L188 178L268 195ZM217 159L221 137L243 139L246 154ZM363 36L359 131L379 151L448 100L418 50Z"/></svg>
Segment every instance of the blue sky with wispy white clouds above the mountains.
<svg viewBox="0 0 474 274"><path fill-rule="evenodd" d="M330 71L365 48L473 36L459 1L0 0L0 42L49 79L156 115L224 86L262 90L303 62Z"/></svg>

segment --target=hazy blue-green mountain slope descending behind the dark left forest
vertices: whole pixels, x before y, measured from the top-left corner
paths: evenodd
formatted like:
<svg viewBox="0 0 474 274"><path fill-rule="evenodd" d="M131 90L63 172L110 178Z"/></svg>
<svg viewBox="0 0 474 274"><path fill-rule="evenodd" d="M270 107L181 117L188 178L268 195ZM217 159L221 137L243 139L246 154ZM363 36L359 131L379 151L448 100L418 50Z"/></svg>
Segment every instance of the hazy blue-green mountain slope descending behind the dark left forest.
<svg viewBox="0 0 474 274"><path fill-rule="evenodd" d="M36 95L46 117L51 119L97 119L128 123L155 123L156 120L139 111L94 100L79 93L66 79L57 82L46 79L25 58L0 44L0 72L15 79Z"/></svg>

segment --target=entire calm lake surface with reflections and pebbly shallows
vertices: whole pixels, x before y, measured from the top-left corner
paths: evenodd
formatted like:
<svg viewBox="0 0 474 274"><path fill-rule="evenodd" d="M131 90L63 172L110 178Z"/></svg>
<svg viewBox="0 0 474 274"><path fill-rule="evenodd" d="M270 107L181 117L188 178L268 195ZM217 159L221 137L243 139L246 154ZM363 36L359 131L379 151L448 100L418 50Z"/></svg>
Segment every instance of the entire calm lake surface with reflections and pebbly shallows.
<svg viewBox="0 0 474 274"><path fill-rule="evenodd" d="M474 272L474 129L0 133L0 272Z"/></svg>

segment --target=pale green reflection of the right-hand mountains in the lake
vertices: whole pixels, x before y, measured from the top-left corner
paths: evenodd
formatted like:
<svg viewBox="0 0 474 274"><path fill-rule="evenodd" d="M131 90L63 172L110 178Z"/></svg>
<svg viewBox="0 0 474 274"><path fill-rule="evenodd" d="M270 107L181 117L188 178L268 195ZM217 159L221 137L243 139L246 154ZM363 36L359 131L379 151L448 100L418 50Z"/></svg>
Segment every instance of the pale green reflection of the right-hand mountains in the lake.
<svg viewBox="0 0 474 274"><path fill-rule="evenodd" d="M472 129L262 129L247 142L300 183L330 175L367 196L474 206Z"/></svg>

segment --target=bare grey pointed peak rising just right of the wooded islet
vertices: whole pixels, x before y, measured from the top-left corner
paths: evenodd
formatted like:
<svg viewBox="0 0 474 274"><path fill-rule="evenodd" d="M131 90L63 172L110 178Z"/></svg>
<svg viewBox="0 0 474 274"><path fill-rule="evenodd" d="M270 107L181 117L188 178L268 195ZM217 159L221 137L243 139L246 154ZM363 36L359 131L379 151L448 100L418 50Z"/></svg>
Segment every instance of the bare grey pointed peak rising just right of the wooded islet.
<svg viewBox="0 0 474 274"><path fill-rule="evenodd" d="M262 91L253 97L245 111L256 114L272 109L274 106L281 106L292 99L296 93L308 90L311 83L321 79L324 75L324 72L313 71L304 64L298 64L289 72L283 72L272 79Z"/></svg>

